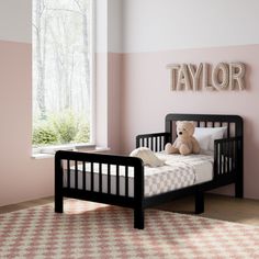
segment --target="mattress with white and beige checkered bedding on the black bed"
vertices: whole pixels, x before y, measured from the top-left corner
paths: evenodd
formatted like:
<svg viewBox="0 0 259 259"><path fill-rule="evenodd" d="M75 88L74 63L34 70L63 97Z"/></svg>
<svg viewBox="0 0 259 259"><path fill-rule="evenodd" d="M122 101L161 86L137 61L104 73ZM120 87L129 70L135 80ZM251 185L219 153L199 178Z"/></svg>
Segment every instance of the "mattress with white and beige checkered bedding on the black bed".
<svg viewBox="0 0 259 259"><path fill-rule="evenodd" d="M145 166L145 196L151 196L213 179L213 156L157 154L165 166ZM99 191L99 164L93 164L94 191ZM86 164L86 190L90 190L90 164ZM67 173L64 176L67 187ZM70 169L70 188L75 188L75 170ZM82 166L78 169L78 189L82 190ZM102 165L102 192L108 192L108 166ZM116 194L116 166L111 165L111 193ZM125 168L120 166L120 195L125 195ZM128 195L134 196L134 168L128 168Z"/></svg>

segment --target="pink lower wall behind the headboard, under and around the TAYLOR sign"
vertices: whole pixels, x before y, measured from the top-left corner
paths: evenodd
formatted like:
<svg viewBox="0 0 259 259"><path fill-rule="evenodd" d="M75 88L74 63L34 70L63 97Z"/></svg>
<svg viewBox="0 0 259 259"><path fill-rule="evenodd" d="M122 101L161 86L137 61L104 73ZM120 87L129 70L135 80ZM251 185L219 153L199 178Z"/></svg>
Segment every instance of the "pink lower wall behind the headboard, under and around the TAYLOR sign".
<svg viewBox="0 0 259 259"><path fill-rule="evenodd" d="M123 54L121 145L128 154L140 133L164 131L167 113L238 114L245 120L245 196L259 199L259 45ZM170 91L168 64L241 61L245 91ZM222 193L232 194L233 188Z"/></svg>

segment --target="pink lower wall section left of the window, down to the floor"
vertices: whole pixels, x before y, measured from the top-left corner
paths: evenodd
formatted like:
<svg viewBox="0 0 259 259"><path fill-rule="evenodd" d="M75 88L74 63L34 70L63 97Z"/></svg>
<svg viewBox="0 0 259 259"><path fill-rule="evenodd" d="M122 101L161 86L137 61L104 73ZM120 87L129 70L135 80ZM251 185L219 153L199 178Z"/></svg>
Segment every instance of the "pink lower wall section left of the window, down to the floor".
<svg viewBox="0 0 259 259"><path fill-rule="evenodd" d="M53 194L53 159L32 154L32 45L0 41L0 206Z"/></svg>

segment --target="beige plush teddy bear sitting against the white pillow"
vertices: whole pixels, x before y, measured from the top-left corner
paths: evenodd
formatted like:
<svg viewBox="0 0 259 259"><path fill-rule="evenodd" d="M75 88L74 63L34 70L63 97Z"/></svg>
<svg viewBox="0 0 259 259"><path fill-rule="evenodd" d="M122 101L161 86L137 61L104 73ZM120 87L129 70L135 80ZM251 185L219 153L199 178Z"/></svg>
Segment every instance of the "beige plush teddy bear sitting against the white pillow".
<svg viewBox="0 0 259 259"><path fill-rule="evenodd" d="M173 144L167 143L165 151L167 154L199 154L200 145L193 137L195 126L190 121L178 121L177 122L177 138Z"/></svg>

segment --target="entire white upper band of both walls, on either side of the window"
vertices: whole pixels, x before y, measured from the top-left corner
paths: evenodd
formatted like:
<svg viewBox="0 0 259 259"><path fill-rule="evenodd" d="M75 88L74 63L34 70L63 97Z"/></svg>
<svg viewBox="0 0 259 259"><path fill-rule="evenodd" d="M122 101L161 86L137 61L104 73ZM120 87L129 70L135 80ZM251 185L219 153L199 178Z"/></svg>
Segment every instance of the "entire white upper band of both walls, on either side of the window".
<svg viewBox="0 0 259 259"><path fill-rule="evenodd" d="M97 52L259 43L258 0L98 0L97 7ZM0 40L31 43L31 21L32 0L0 0Z"/></svg>

